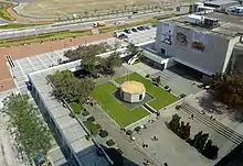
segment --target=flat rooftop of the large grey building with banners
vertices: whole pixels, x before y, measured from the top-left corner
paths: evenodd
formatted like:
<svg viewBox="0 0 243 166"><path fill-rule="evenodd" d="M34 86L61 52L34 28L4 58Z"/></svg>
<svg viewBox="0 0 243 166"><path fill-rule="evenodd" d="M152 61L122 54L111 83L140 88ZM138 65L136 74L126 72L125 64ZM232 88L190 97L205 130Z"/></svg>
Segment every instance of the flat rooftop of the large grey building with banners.
<svg viewBox="0 0 243 166"><path fill-rule="evenodd" d="M241 15L230 15L220 12L209 12L203 13L204 18L218 19L220 20L220 25L213 29L207 29L203 26L194 25L189 22L186 22L186 18L188 15L178 16L175 19L167 20L172 24L177 24L182 27L188 27L198 31L207 31L208 33L213 33L215 35L220 35L222 37L231 38L239 35L239 33L243 32L243 16Z"/></svg>

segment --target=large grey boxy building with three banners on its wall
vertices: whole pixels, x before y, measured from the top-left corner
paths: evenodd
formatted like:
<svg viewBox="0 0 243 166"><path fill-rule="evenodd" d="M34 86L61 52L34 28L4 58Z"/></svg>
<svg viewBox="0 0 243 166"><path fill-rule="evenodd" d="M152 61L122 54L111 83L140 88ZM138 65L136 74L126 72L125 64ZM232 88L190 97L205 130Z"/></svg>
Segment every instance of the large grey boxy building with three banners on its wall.
<svg viewBox="0 0 243 166"><path fill-rule="evenodd" d="M159 55L208 76L226 73L241 35L232 34L230 27L223 29L215 19L208 19L215 22L215 26L205 27L205 16L180 16L159 22L155 44Z"/></svg>

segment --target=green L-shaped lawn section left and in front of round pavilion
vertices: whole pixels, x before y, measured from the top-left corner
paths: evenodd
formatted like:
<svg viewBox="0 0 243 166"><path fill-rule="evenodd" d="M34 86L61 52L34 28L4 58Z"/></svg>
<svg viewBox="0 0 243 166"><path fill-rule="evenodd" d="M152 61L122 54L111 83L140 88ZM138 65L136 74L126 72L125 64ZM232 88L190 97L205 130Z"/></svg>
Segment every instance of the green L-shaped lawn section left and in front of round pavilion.
<svg viewBox="0 0 243 166"><path fill-rule="evenodd" d="M142 109L137 108L133 111L126 109L123 103L112 95L117 88L110 82L97 86L92 93L92 97L97 100L102 108L120 125L126 126L148 115L149 113Z"/></svg>

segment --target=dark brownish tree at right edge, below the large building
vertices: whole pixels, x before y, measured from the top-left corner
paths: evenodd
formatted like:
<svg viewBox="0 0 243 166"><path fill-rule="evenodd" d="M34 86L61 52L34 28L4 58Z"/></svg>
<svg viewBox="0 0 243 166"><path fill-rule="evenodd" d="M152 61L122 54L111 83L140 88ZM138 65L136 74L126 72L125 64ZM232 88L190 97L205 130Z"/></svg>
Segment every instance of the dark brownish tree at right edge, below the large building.
<svg viewBox="0 0 243 166"><path fill-rule="evenodd" d="M212 96L229 106L243 106L243 73L215 74L210 85Z"/></svg>

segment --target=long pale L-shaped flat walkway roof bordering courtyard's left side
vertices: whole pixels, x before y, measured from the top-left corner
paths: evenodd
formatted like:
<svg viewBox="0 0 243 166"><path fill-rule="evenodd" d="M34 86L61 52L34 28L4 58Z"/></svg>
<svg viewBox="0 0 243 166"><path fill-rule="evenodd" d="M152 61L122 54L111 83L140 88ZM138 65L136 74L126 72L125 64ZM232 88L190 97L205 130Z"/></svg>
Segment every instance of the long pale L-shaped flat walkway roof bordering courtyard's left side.
<svg viewBox="0 0 243 166"><path fill-rule="evenodd" d="M70 110L64 108L61 102L51 96L52 87L47 84L45 78L47 75L52 75L57 70L73 69L78 65L80 60L76 60L32 73L29 77L38 90L39 97L42 99L44 107L52 117L55 126L59 129L71 151L76 154L82 165L108 166L109 164L106 158L97 155L97 144L95 144L93 140L87 141L85 139L87 132L84 126L76 119L71 118Z"/></svg>

